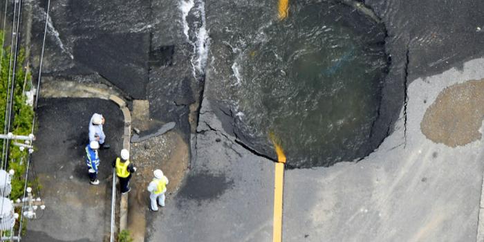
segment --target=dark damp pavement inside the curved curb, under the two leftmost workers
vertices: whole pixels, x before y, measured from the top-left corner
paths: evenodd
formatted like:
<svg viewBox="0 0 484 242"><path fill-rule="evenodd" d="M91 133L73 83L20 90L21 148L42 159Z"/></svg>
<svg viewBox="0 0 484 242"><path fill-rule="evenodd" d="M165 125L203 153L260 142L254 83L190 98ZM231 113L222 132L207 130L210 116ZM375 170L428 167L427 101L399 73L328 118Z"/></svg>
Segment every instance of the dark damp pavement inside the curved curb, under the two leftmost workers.
<svg viewBox="0 0 484 242"><path fill-rule="evenodd" d="M102 113L111 149L101 150L100 185L89 184L85 164L91 115ZM28 221L23 241L103 241L111 216L111 161L122 149L124 120L111 101L91 98L39 100L39 129L33 155L34 178L42 186L46 210Z"/></svg>

